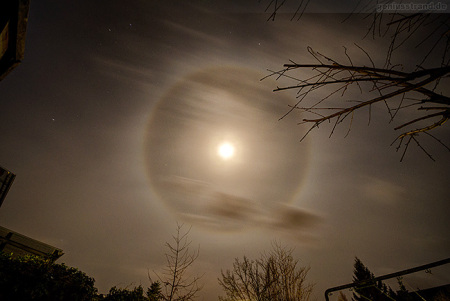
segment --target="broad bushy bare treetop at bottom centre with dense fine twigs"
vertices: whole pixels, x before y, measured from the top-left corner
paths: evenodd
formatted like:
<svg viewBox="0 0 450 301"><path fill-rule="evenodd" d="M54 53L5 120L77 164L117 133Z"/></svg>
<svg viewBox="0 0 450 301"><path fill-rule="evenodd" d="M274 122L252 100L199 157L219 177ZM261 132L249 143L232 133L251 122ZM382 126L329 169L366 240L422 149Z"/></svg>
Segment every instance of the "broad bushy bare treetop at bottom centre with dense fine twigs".
<svg viewBox="0 0 450 301"><path fill-rule="evenodd" d="M233 269L222 271L218 279L226 294L219 300L309 300L313 288L306 283L309 268L298 266L292 252L274 244L270 253L258 259L236 258Z"/></svg>

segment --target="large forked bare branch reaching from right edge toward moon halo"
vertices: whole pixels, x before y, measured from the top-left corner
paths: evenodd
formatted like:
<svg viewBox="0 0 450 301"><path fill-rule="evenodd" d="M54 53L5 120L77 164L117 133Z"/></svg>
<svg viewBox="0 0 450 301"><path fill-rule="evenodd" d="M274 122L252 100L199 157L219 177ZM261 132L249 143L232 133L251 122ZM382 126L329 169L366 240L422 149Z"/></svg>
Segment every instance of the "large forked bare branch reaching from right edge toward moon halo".
<svg viewBox="0 0 450 301"><path fill-rule="evenodd" d="M361 49L361 47L358 46ZM408 122L396 126L394 129L399 130L416 124L418 122L423 122L431 120L435 117L441 117L438 121L432 122L428 125L422 126L416 129L407 129L405 132L401 133L397 139L403 140L405 136L415 136L419 133L431 131L441 125L443 125L450 117L450 98L438 94L427 88L428 85L436 83L436 81L445 78L450 75L450 66L442 66L438 68L422 69L413 72L404 72L395 69L377 68L372 60L372 67L367 66L355 66L350 57L348 57L351 65L343 65L335 60L329 59L323 54L314 52L312 49L308 48L308 51L318 60L319 64L297 64L288 63L285 64L283 73L273 73L277 74L280 78L286 78L292 80L295 78L299 84L287 85L287 86L277 86L274 89L275 92L284 91L289 89L297 89L299 92L299 101L295 105L291 105L288 112L281 118L290 114L293 110L300 110L301 112L313 114L316 118L303 118L301 123L313 123L314 125L307 131L308 135L312 129L318 127L324 121L331 121L335 119L333 128L331 130L330 136L335 132L337 125L341 124L345 118L351 115L351 120L349 128L347 130L346 136L351 131L353 125L354 112L360 110L363 107L369 108L369 123L371 119L371 108L372 105L383 102L391 116L391 122L406 108L416 107L417 111L427 111L427 110L439 110L440 112L433 114L425 114L424 116L414 118ZM344 48L346 52L347 49ZM364 51L366 55L367 52ZM348 56L348 54L346 53ZM325 61L332 61L332 64L327 64ZM296 76L291 74L295 70L304 70L302 72L307 75L305 79L297 79ZM308 70L310 71L308 73ZM345 72L347 74L345 74ZM302 74L300 73L300 74ZM315 75L314 75L315 73ZM367 84L372 84L371 89L367 89ZM370 95L371 92L376 91L379 96L369 98L368 100L358 101L357 104L353 105L342 105L349 104L350 102L344 100L333 100L331 96L335 96L337 92L341 92L339 98L345 97L345 94L349 88L355 85L359 89L360 93L365 92L365 94ZM325 87L335 87L329 92L328 95L322 96L322 98L311 97L309 94L317 92L319 89L324 89ZM330 91L330 90L328 90ZM422 95L422 100L416 101L417 98L409 97L410 93L416 93ZM399 98L400 97L400 98ZM400 99L400 100L399 100ZM311 102L312 100L312 102ZM413 103L405 104L414 100ZM339 102L338 106L327 106L325 103L329 102ZM344 102L343 102L344 101ZM307 104L309 102L309 105ZM424 107L423 104L438 104L437 106ZM302 106L300 105L302 104ZM325 111L331 111L329 114L322 114ZM334 111L334 112L333 112ZM304 137L302 138L302 140ZM414 137L414 141L418 140ZM409 139L405 148L409 146L412 140ZM420 144L420 143L419 143ZM420 148L423 148L419 145ZM425 151L428 155L428 153ZM404 156L402 156L404 157ZM431 156L429 156L431 158Z"/></svg>

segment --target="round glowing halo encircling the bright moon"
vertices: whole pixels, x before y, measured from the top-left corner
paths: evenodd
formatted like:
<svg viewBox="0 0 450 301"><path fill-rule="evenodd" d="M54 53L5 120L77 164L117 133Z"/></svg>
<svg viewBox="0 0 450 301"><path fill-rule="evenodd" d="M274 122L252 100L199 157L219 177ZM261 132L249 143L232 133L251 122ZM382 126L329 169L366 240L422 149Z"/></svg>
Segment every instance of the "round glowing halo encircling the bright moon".
<svg viewBox="0 0 450 301"><path fill-rule="evenodd" d="M264 74L210 67L175 83L152 110L144 156L152 191L177 218L208 229L254 225L292 203L307 174L309 144L291 96ZM220 160L217 147L233 145Z"/></svg>

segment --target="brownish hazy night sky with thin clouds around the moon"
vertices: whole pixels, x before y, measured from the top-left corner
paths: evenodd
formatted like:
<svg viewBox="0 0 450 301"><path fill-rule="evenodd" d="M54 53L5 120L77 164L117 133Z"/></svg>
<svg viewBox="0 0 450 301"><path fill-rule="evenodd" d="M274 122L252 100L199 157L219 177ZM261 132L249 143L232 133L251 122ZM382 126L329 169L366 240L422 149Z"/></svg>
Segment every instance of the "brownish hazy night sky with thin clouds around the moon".
<svg viewBox="0 0 450 301"><path fill-rule="evenodd" d="M408 116L390 124L382 105L347 137L343 125L329 138L331 124L300 143L301 117L279 120L295 91L260 80L313 62L307 46L339 60L346 46L367 64L357 42L382 60L386 41L363 39L365 20L342 23L331 12L351 4L333 3L300 21L286 6L272 22L256 0L32 1L25 58L0 82L0 165L16 174L0 225L61 248L58 262L106 293L148 286L184 223L200 246L200 300L222 294L235 257L274 241L311 267L318 299L352 281L355 256L375 275L449 257L444 147L424 142L433 162L411 145L400 162L390 144ZM450 142L448 127L436 135ZM448 269L434 275L419 282L450 282Z"/></svg>

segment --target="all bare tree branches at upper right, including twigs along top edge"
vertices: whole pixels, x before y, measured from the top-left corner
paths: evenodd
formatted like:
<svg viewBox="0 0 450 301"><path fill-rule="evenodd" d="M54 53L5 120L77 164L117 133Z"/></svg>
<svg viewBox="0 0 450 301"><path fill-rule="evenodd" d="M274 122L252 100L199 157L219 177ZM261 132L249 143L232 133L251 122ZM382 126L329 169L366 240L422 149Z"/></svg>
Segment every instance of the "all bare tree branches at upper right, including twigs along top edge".
<svg viewBox="0 0 450 301"><path fill-rule="evenodd" d="M301 17L309 1L297 2L299 8L294 16ZM333 122L333 134L336 126L344 121L348 122L350 132L354 114L362 108L368 108L370 122L372 106L381 104L386 108L391 122L397 120L400 113L408 118L394 127L395 130L402 130L393 142L398 142L397 151L403 148L401 160L411 142L415 142L433 159L419 141L419 135L431 137L450 151L448 146L430 133L450 119L450 97L445 95L448 93L445 90L448 83L444 83L450 76L450 16L430 12L387 14L377 10L377 5L381 5L378 2L369 0L359 3L361 2L366 3L365 10L367 7L372 8L372 13L365 14L371 19L367 35L389 41L384 62L374 62L369 53L356 44L367 56L368 65L355 64L345 47L344 53L348 59L346 63L308 47L308 52L313 57L312 63L290 61L282 70L269 70L269 76L294 82L274 89L297 90L298 100L291 105L286 115L294 110L309 114L311 117L305 117L300 122L312 124L306 135L324 122ZM273 12L269 19L274 20L285 3L286 0L270 1L266 9ZM360 9L363 10L364 8ZM354 11L358 12L358 7ZM353 13L350 14L352 15ZM409 41L413 44L408 44ZM422 53L422 57L418 56L415 65L395 61L393 54L402 47L416 47L414 51ZM361 96L355 100L354 93L350 91ZM352 98L346 97L349 94L352 94Z"/></svg>

